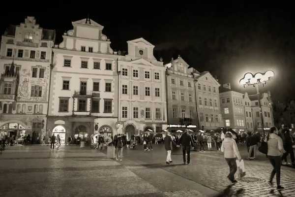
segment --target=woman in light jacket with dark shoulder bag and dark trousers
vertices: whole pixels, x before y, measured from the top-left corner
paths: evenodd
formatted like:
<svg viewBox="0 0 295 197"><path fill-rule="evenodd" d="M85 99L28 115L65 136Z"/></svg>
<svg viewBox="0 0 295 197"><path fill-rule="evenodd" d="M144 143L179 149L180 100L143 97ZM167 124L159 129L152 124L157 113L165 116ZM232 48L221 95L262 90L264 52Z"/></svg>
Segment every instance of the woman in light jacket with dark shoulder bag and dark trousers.
<svg viewBox="0 0 295 197"><path fill-rule="evenodd" d="M270 174L269 185L272 187L272 179L276 174L277 190L283 190L284 188L280 186L281 180L281 156L286 152L283 147L283 141L280 136L278 136L278 129L272 127L268 131L265 142L267 142L267 158L270 164L273 166L273 170Z"/></svg>

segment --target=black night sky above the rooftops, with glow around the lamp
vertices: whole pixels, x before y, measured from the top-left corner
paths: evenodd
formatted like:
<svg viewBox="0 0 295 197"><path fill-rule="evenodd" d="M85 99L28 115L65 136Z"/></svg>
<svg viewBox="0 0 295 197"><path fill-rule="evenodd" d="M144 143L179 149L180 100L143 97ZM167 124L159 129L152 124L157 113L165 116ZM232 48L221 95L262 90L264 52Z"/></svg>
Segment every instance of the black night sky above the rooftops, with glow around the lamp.
<svg viewBox="0 0 295 197"><path fill-rule="evenodd" d="M258 0L259 1L259 0ZM246 72L273 70L275 77L261 92L270 90L274 101L295 98L295 14L292 1L243 0L184 1L47 1L28 9L16 7L0 13L0 32L10 24L35 16L44 29L55 29L56 42L72 28L71 22L90 18L104 26L103 33L114 50L127 50L127 40L144 37L155 45L154 55L168 63L180 55L200 72L217 75L221 84L231 83L239 92L239 79ZM193 1L192 1L193 2ZM267 3L266 3L267 2ZM277 3L279 2L279 4ZM53 4L50 8L50 4ZM30 4L34 4L33 2ZM71 7L69 7L71 6ZM27 6L28 7L28 6ZM45 7L48 7L47 9Z"/></svg>

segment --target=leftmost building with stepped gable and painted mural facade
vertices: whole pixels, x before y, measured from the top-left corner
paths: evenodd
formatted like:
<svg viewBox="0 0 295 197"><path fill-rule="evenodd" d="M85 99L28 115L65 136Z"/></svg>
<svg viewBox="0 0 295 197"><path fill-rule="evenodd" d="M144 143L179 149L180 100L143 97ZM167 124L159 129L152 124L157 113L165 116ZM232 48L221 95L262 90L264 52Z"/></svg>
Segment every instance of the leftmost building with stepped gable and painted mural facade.
<svg viewBox="0 0 295 197"><path fill-rule="evenodd" d="M1 39L0 131L39 143L46 134L50 63L55 31L27 17Z"/></svg>

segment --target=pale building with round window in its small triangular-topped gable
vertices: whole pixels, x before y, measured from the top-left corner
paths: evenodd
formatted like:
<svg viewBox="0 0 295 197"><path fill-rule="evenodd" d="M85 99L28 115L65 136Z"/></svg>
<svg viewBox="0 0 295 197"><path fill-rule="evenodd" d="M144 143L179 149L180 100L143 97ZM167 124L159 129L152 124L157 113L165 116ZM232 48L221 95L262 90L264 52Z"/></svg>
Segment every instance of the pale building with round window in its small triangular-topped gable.
<svg viewBox="0 0 295 197"><path fill-rule="evenodd" d="M167 128L165 67L144 38L127 41L128 55L118 58L119 132L129 138L139 131Z"/></svg>

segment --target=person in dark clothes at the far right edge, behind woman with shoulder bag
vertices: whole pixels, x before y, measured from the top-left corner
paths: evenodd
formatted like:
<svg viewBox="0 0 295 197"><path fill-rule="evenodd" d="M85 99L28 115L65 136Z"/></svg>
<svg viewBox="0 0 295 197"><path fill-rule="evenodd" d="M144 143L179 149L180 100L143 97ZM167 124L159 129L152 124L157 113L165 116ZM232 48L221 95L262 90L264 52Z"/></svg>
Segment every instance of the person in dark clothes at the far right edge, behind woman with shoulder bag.
<svg viewBox="0 0 295 197"><path fill-rule="evenodd" d="M293 147L292 147L293 139L292 139L290 130L287 125L284 126L282 134L284 135L283 145L284 145L284 149L286 151L286 153L284 153L284 155L282 157L282 161L285 160L283 162L283 164L290 164L287 162L287 156L288 156L288 154L290 154L292 166L295 167L295 158L294 158L294 152L293 152Z"/></svg>

